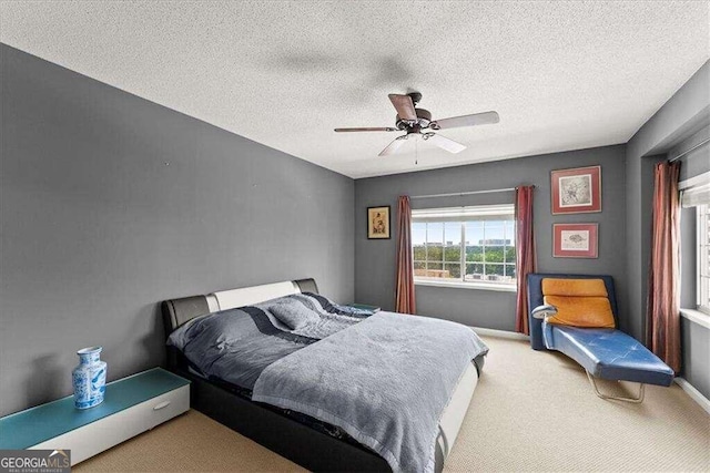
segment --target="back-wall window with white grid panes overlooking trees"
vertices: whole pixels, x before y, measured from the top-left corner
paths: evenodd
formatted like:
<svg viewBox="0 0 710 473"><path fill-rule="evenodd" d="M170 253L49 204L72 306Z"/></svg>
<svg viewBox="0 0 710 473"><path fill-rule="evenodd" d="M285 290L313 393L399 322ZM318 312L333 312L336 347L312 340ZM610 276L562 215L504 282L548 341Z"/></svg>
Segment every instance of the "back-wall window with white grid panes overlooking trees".
<svg viewBox="0 0 710 473"><path fill-rule="evenodd" d="M412 210L416 284L515 288L515 208Z"/></svg>

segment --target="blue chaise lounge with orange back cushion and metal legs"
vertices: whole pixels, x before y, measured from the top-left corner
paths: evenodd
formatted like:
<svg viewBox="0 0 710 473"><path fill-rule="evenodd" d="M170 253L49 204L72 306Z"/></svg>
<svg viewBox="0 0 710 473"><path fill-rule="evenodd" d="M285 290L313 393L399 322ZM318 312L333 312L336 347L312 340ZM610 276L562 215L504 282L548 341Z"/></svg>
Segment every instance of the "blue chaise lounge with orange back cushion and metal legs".
<svg viewBox="0 0 710 473"><path fill-rule="evenodd" d="M673 370L618 330L611 276L531 274L528 320L534 350L557 350L581 364L598 397L640 403L645 384L668 387ZM640 383L635 398L607 395L596 378Z"/></svg>

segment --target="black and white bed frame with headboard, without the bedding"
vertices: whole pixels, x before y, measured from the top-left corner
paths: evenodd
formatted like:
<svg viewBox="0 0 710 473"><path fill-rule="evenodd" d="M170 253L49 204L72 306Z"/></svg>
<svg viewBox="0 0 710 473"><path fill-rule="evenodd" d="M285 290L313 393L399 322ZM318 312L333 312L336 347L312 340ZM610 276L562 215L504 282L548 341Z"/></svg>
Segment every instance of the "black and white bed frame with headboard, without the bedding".
<svg viewBox="0 0 710 473"><path fill-rule="evenodd" d="M298 292L318 292L313 279L276 282L192 296L162 302L165 337L189 320L230 308ZM253 402L233 392L229 385L193 373L187 360L174 347L168 349L168 369L191 381L191 407L230 429L311 471L389 472L387 462L373 451L316 431L268 404ZM466 370L440 420L436 471L444 460L468 408L478 381L474 363Z"/></svg>

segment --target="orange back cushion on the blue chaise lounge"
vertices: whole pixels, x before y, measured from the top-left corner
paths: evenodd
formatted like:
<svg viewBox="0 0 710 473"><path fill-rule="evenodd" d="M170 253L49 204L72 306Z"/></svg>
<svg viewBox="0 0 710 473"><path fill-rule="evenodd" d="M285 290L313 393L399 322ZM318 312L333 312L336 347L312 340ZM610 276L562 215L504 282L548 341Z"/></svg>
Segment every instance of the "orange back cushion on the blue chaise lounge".
<svg viewBox="0 0 710 473"><path fill-rule="evenodd" d="M601 279L542 279L545 304L557 307L548 323L616 328L607 288Z"/></svg>

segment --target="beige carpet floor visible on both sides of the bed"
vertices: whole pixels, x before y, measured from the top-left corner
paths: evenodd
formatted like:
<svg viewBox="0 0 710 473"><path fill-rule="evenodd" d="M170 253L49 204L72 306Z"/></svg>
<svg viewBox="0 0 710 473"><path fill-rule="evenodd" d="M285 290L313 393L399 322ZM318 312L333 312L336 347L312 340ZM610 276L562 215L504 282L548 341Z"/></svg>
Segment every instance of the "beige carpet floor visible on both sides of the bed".
<svg viewBox="0 0 710 473"><path fill-rule="evenodd" d="M565 356L532 351L525 341L484 339L490 353L446 471L710 472L710 415L679 387L647 387L640 405L604 401ZM626 391L610 382L601 388ZM295 470L195 411L74 467Z"/></svg>

